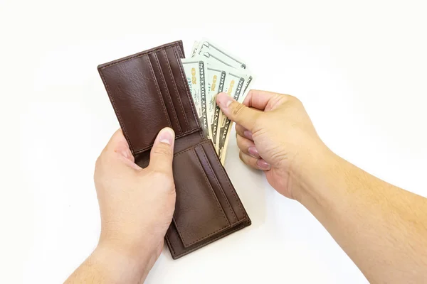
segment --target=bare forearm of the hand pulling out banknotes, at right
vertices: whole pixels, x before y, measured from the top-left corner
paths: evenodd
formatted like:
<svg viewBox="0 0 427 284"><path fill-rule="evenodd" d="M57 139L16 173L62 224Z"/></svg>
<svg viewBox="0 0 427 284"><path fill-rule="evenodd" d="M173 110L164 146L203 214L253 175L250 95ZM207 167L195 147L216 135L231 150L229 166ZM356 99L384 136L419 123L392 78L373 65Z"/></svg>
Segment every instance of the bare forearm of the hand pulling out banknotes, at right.
<svg viewBox="0 0 427 284"><path fill-rule="evenodd" d="M427 278L427 199L332 153L312 165L300 202L373 283Z"/></svg>

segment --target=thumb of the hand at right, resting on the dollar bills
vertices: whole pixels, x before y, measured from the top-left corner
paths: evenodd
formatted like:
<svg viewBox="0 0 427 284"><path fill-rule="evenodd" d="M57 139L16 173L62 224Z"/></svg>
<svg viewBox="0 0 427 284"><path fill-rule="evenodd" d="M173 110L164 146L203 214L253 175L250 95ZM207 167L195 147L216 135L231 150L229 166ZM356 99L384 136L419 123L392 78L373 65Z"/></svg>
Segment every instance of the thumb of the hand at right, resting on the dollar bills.
<svg viewBox="0 0 427 284"><path fill-rule="evenodd" d="M236 122L236 124L241 124L241 126L249 131L253 130L255 120L260 115L260 111L250 109L244 104L240 104L227 93L217 94L216 103L218 104L218 107L221 108L221 111L226 114L228 119Z"/></svg>

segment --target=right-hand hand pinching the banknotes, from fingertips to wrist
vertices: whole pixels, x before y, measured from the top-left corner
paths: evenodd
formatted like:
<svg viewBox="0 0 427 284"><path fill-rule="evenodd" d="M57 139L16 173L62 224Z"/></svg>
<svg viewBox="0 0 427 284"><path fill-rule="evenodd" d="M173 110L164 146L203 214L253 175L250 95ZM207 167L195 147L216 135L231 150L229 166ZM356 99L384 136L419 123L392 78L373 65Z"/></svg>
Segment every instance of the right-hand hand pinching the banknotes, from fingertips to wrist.
<svg viewBox="0 0 427 284"><path fill-rule="evenodd" d="M304 185L288 180L305 175L313 155L321 158L330 151L317 136L302 103L287 94L258 90L251 90L244 104L224 94L218 94L216 102L236 122L243 163L264 170L270 185L282 195L297 198ZM291 168L294 175L290 175Z"/></svg>

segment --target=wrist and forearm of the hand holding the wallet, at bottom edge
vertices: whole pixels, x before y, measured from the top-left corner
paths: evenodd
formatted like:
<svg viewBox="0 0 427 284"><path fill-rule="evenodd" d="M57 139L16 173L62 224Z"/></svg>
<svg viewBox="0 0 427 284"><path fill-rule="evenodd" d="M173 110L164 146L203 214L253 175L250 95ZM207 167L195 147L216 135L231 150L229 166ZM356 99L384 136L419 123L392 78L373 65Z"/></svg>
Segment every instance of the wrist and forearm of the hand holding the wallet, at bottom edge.
<svg viewBox="0 0 427 284"><path fill-rule="evenodd" d="M152 253L130 253L99 244L65 283L143 283L154 261Z"/></svg>

